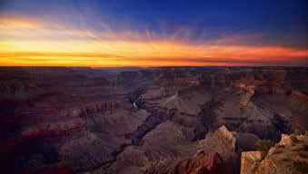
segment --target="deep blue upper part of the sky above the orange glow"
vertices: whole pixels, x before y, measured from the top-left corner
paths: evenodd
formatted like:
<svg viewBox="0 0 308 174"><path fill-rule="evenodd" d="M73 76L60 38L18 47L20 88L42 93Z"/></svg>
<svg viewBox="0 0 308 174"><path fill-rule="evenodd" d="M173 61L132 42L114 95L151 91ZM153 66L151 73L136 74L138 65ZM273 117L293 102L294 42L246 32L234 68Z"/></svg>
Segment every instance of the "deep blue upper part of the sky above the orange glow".
<svg viewBox="0 0 308 174"><path fill-rule="evenodd" d="M306 47L304 0L2 0L2 14L32 16L101 29L98 21L114 30L150 30L172 34L190 27L192 41L203 31L211 39L223 34L263 34L263 44ZM286 41L285 41L286 40ZM283 42L284 41L284 42Z"/></svg>

